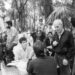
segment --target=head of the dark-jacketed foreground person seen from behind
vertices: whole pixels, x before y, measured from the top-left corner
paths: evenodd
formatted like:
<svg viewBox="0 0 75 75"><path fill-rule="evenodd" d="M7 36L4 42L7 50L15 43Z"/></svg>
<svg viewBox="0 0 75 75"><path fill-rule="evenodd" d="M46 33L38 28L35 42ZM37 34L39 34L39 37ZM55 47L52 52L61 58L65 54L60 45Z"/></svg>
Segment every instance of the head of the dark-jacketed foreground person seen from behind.
<svg viewBox="0 0 75 75"><path fill-rule="evenodd" d="M37 40L34 45L33 45L33 49L34 52L36 54L37 57L44 57L44 48L45 48L45 44L43 42L41 42L40 40Z"/></svg>

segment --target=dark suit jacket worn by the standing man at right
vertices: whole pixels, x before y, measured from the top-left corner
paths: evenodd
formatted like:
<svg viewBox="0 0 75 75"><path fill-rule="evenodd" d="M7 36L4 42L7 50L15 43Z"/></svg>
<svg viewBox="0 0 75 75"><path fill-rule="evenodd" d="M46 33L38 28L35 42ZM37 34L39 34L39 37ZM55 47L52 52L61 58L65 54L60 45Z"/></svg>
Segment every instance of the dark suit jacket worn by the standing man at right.
<svg viewBox="0 0 75 75"><path fill-rule="evenodd" d="M61 56L64 55L66 58L70 59L75 53L72 33L69 31L64 31L60 39L58 39L57 35L55 35L55 38L55 40L58 41L58 45L54 47L55 53Z"/></svg>

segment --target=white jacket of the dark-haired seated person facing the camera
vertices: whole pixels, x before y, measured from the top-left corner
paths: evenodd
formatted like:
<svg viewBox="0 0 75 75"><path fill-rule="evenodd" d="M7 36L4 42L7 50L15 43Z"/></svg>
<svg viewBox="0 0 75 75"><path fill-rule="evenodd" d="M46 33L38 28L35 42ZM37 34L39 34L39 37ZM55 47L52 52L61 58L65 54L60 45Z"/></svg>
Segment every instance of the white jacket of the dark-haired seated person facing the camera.
<svg viewBox="0 0 75 75"><path fill-rule="evenodd" d="M13 48L13 54L15 60L28 60L33 57L34 51L33 48L30 46L27 46L26 50L24 50L19 43Z"/></svg>

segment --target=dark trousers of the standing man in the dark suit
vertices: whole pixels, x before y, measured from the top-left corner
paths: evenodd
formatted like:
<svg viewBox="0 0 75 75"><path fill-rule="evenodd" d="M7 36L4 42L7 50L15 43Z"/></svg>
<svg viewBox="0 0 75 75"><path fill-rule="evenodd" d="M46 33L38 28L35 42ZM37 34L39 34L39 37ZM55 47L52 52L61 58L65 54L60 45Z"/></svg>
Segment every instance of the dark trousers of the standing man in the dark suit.
<svg viewBox="0 0 75 75"><path fill-rule="evenodd" d="M62 64L62 61L64 58L65 58L65 56L60 56L58 54L55 54L55 59L56 59L57 65L59 66L59 69L57 69L57 70L60 71L58 73L60 73L59 75L71 75L70 64L68 64L66 66L64 66Z"/></svg>

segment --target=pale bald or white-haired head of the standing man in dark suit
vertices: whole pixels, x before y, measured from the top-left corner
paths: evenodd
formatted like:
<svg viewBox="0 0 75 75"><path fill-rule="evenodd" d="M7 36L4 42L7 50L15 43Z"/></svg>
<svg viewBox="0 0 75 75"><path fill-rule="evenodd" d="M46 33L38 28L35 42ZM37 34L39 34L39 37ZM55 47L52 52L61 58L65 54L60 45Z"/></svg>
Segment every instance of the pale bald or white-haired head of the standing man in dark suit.
<svg viewBox="0 0 75 75"><path fill-rule="evenodd" d="M53 22L53 28L55 30L55 32L57 33L61 33L62 29L63 29L63 22L61 19L56 19Z"/></svg>

